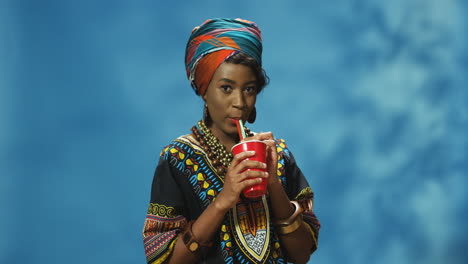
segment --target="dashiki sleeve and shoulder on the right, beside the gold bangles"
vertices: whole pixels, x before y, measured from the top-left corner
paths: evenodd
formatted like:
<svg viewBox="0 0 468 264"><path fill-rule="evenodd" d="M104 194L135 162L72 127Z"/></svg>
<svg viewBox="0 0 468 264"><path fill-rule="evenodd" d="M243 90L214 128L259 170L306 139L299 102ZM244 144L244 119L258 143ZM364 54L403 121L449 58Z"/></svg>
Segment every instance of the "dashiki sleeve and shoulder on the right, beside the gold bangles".
<svg viewBox="0 0 468 264"><path fill-rule="evenodd" d="M303 220L306 227L309 229L314 246L311 251L315 251L318 246L318 235L320 230L320 222L315 215L314 208L314 192L309 186L307 179L302 174L302 171L297 166L293 154L289 151L286 142L282 139L276 142L278 151L278 177L283 183L283 187L291 201L297 201L302 209Z"/></svg>

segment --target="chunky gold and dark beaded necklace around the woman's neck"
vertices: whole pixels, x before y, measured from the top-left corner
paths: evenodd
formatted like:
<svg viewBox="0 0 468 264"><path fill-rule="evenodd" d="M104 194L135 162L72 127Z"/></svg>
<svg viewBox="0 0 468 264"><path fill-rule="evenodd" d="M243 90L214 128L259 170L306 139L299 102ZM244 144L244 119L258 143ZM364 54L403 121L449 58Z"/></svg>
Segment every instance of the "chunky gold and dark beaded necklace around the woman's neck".
<svg viewBox="0 0 468 264"><path fill-rule="evenodd" d="M211 133L211 130L206 126L204 120L198 121L198 127L193 126L191 131L195 138L200 142L203 150L208 154L208 158L216 167L218 175L224 176L227 168L231 165L233 159L232 153L226 150L226 147L219 142L218 138ZM245 128L247 136L253 136L250 129Z"/></svg>

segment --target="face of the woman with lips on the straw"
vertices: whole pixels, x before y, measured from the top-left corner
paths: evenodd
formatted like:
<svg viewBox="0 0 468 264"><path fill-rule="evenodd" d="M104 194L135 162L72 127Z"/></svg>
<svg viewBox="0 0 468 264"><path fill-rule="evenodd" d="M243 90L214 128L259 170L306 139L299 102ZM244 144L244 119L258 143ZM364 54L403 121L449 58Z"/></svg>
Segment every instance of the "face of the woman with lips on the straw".
<svg viewBox="0 0 468 264"><path fill-rule="evenodd" d="M248 119L255 106L257 88L257 79L248 66L221 63L203 95L215 136L237 136L235 120L245 123Z"/></svg>

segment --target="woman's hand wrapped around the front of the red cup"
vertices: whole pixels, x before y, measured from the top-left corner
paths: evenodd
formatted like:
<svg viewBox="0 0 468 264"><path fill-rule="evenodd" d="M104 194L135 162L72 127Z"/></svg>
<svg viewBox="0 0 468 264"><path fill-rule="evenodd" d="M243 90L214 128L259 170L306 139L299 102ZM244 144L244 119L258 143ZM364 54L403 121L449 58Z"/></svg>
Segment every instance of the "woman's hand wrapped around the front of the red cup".
<svg viewBox="0 0 468 264"><path fill-rule="evenodd" d="M215 199L215 203L218 204L219 208L225 211L231 209L236 205L244 188L260 183L262 181L261 178L268 178L267 172L248 170L266 168L265 163L246 160L246 158L254 155L254 151L245 151L237 154L232 159L231 165L224 176L223 190L221 190Z"/></svg>

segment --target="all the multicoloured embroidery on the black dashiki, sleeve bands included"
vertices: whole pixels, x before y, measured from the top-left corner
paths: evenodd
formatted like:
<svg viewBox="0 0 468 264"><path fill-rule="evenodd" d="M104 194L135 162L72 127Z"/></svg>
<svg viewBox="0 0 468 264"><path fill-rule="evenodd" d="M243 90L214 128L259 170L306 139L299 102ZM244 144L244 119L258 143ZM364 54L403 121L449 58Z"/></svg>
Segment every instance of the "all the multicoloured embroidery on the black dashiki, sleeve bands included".
<svg viewBox="0 0 468 264"><path fill-rule="evenodd" d="M286 185L285 158L289 150L284 140L277 140L277 175ZM179 170L192 186L201 203L207 207L222 190L224 179L216 173L206 152L190 136L179 137L161 152L161 159ZM305 188L297 195L304 208L304 221L314 230L319 226L311 212L313 194ZM219 230L219 248L226 263L286 263L278 236L269 215L267 197L258 200L241 199L229 211ZM310 212L310 213L309 213ZM144 227L144 243L148 261L163 262L172 252L176 236L186 224L185 217L176 208L150 204Z"/></svg>

